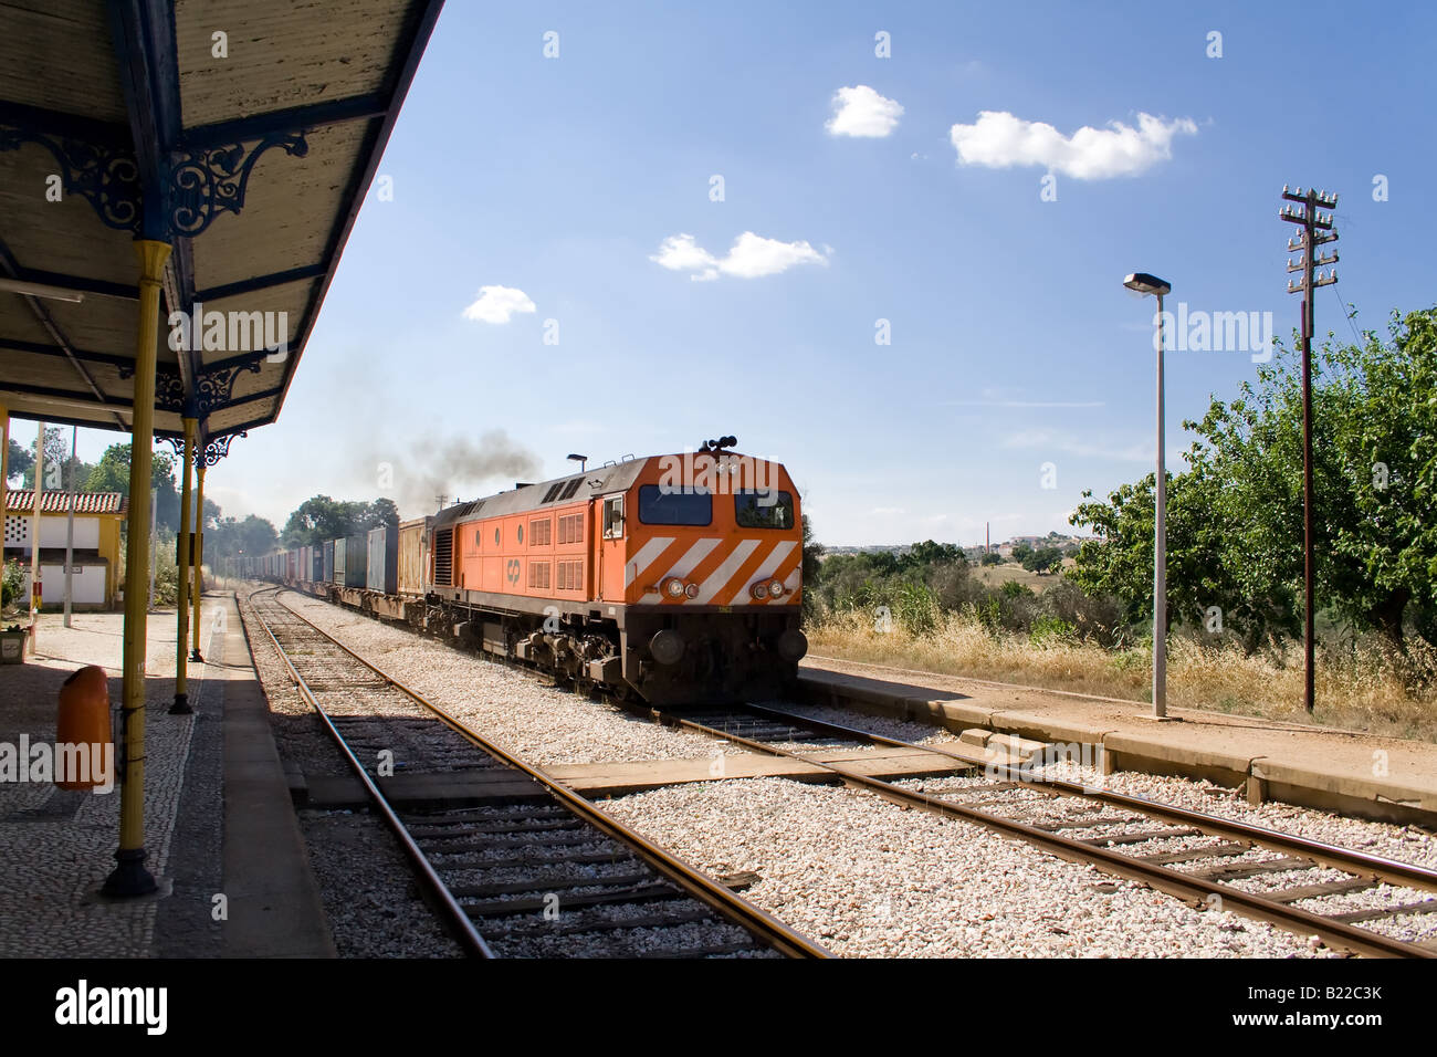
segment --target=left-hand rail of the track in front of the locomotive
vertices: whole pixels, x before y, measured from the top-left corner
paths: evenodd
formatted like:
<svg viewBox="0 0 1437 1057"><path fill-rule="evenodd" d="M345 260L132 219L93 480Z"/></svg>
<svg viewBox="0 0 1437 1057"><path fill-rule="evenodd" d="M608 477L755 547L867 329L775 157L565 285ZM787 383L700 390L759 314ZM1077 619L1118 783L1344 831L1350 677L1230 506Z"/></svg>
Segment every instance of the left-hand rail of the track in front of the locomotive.
<svg viewBox="0 0 1437 1057"><path fill-rule="evenodd" d="M691 719L684 719L660 709L650 708L647 712L655 722L683 726L714 738L723 738L756 752L764 752L773 756L783 756L803 764L810 764L813 767L821 767L826 771L832 771L845 785L868 790L901 807L917 807L934 814L961 818L999 833L1020 837L1022 840L1036 844L1046 851L1052 851L1062 859L1098 864L1106 873L1141 882L1148 887L1190 900L1197 906L1213 906L1211 897L1216 896L1220 900L1217 906L1224 909L1239 909L1249 918L1270 922L1289 932L1322 936L1329 941L1331 945L1345 948L1355 953L1375 958L1437 958L1437 952L1427 951L1414 943L1391 939L1377 932L1359 929L1354 925L1346 925L1345 922L1315 915L1311 910L1302 910L1295 906L1277 903L1270 899L1265 899L1263 896L1243 892L1240 889L1232 889L1203 877L1178 873L1177 870L1167 870L1163 866L1144 863L1140 859L1125 856L1119 851L1109 851L1104 847L1083 844L1072 837L1063 837L1058 833L1039 830L1033 825L1027 825L1026 823L1019 823L987 811L979 811L977 808L964 807L963 804L954 804L951 801L931 797L925 792L902 790L881 778L872 778L839 764L813 759L812 756L799 752L780 749L775 745L753 741L727 731L720 731L718 728L697 723ZM928 751L928 748L923 745L912 748Z"/></svg>

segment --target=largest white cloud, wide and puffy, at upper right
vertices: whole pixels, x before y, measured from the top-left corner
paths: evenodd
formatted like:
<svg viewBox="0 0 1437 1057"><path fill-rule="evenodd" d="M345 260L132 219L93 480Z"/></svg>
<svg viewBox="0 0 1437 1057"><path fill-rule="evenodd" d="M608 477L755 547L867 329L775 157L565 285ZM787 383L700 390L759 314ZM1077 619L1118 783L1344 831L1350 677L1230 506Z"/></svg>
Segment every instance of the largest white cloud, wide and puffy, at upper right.
<svg viewBox="0 0 1437 1057"><path fill-rule="evenodd" d="M1173 157L1173 137L1197 135L1191 118L1163 121L1138 114L1138 127L1121 121L1108 128L1083 125L1065 137L1043 121L1023 121L1006 111L981 111L971 125L954 125L948 137L960 165L1043 165L1075 180L1137 175Z"/></svg>

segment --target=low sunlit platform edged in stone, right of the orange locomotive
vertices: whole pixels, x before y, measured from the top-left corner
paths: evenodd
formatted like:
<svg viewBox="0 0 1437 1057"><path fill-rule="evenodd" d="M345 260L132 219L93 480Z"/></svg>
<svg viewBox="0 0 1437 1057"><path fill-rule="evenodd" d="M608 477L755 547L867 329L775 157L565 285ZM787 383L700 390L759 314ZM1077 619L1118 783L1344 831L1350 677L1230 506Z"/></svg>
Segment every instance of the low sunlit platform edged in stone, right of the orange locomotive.
<svg viewBox="0 0 1437 1057"><path fill-rule="evenodd" d="M1276 800L1403 825L1437 825L1437 745L1362 731L993 683L833 657L806 657L810 703L963 731L1101 746L1102 769L1206 778Z"/></svg>

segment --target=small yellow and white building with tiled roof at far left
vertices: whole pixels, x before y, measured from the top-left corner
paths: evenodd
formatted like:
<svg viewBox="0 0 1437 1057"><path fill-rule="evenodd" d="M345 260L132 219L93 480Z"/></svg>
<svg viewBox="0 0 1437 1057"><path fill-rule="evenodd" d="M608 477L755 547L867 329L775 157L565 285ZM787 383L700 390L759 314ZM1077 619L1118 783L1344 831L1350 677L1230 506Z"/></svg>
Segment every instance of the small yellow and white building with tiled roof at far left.
<svg viewBox="0 0 1437 1057"><path fill-rule="evenodd" d="M65 604L65 538L69 522L69 492L42 492L40 505L40 592L45 605ZM119 492L75 495L75 545L72 551L72 604L80 610L109 610L119 588L119 526L128 503ZM26 592L30 574L30 526L34 521L34 492L6 493L4 559L24 565Z"/></svg>

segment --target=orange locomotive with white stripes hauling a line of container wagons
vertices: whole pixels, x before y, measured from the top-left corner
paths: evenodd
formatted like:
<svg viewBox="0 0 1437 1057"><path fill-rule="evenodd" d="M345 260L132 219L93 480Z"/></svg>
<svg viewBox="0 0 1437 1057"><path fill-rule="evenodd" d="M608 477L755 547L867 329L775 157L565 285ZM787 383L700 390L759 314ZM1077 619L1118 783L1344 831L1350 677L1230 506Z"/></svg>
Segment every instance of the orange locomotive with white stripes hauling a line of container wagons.
<svg viewBox="0 0 1437 1057"><path fill-rule="evenodd" d="M243 572L618 697L779 696L808 651L799 493L736 443L520 483Z"/></svg>

